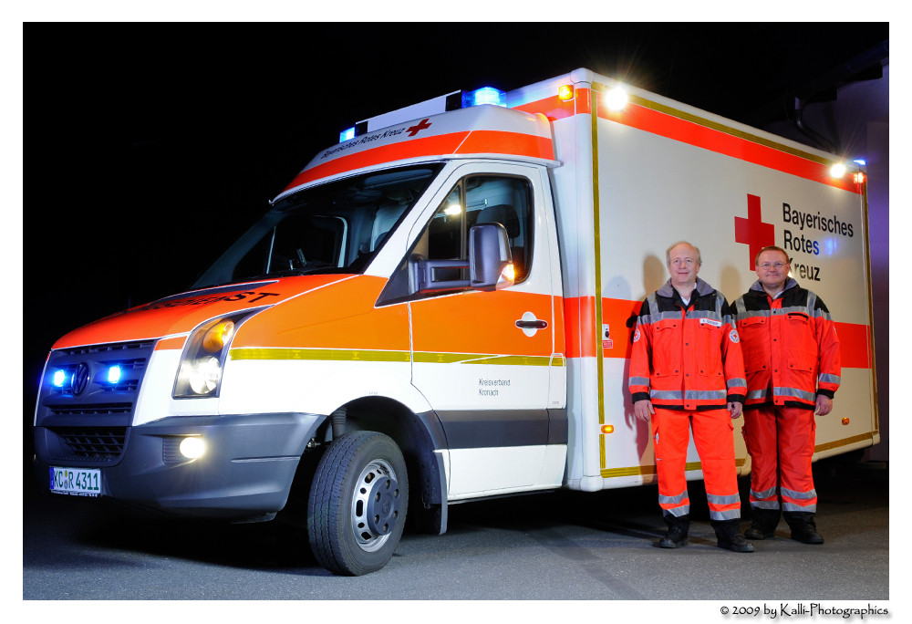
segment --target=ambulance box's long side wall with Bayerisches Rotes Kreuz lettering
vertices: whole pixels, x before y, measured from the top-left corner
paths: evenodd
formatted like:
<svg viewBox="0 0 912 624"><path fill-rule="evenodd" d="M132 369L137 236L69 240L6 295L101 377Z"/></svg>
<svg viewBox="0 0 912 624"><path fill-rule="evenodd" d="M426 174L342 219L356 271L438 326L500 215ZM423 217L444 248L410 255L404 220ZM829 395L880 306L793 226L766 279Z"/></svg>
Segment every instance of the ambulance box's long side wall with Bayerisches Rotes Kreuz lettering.
<svg viewBox="0 0 912 624"><path fill-rule="evenodd" d="M599 472L606 486L655 479L648 426L633 418L627 391L627 317L668 279L665 250L700 247L700 277L731 302L756 280L766 244L793 257L793 276L819 296L838 324L843 385L834 411L817 421L817 456L876 442L871 369L866 223L860 188L828 178L828 164L788 146L757 144L690 115L634 99L624 113L599 108L598 209L604 412ZM732 136L732 134L734 136ZM845 419L845 421L844 421ZM743 420L736 421L736 432ZM737 463L750 467L743 437ZM701 478L691 442L689 478Z"/></svg>

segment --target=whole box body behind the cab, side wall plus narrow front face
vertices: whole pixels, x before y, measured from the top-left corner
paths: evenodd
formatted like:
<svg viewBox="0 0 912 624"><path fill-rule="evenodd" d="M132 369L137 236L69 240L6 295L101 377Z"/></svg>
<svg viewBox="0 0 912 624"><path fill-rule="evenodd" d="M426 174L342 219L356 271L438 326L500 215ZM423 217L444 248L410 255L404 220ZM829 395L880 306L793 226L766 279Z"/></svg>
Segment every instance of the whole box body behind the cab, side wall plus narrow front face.
<svg viewBox="0 0 912 624"><path fill-rule="evenodd" d="M523 105L550 111L563 163L551 175L564 260L568 485L655 481L648 424L633 416L627 391L630 323L668 279L665 250L682 239L700 247L700 277L729 301L756 280L763 245L790 252L793 276L823 298L842 342L842 388L818 418L816 456L876 443L864 189L851 176L830 178L823 152L643 93L611 112L601 85L589 86L577 83L572 110L554 99ZM741 435L735 444L747 472ZM688 468L701 478L692 442Z"/></svg>

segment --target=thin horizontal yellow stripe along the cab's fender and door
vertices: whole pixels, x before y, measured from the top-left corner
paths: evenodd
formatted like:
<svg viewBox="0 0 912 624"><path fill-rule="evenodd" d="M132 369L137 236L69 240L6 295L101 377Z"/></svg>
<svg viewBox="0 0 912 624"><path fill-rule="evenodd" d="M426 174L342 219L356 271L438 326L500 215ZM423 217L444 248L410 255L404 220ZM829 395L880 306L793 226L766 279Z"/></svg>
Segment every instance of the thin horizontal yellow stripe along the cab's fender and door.
<svg viewBox="0 0 912 624"><path fill-rule="evenodd" d="M233 348L231 359L309 359L329 361L405 362L408 351L376 351L344 348ZM564 358L550 356L502 356L472 353L416 353L420 364L491 364L493 366L564 366Z"/></svg>

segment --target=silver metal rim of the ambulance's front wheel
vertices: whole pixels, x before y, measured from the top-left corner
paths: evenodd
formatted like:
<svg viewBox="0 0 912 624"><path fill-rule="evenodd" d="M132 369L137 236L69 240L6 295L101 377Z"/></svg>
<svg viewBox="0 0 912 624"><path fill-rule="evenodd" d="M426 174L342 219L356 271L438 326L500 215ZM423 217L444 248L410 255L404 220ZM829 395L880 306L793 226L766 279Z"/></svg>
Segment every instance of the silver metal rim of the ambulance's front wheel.
<svg viewBox="0 0 912 624"><path fill-rule="evenodd" d="M358 476L351 502L351 527L355 539L368 552L382 547L399 522L399 482L384 460L368 463Z"/></svg>

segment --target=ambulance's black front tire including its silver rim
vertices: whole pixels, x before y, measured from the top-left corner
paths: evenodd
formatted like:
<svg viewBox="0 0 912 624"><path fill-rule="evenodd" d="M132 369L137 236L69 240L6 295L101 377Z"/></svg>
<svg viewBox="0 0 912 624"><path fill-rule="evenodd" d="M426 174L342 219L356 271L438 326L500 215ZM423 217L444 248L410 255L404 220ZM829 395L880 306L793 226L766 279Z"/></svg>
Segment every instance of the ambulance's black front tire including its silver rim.
<svg viewBox="0 0 912 624"><path fill-rule="evenodd" d="M387 565L399 546L409 477L396 442L378 432L348 432L316 466L307 501L307 534L317 562L360 576Z"/></svg>

